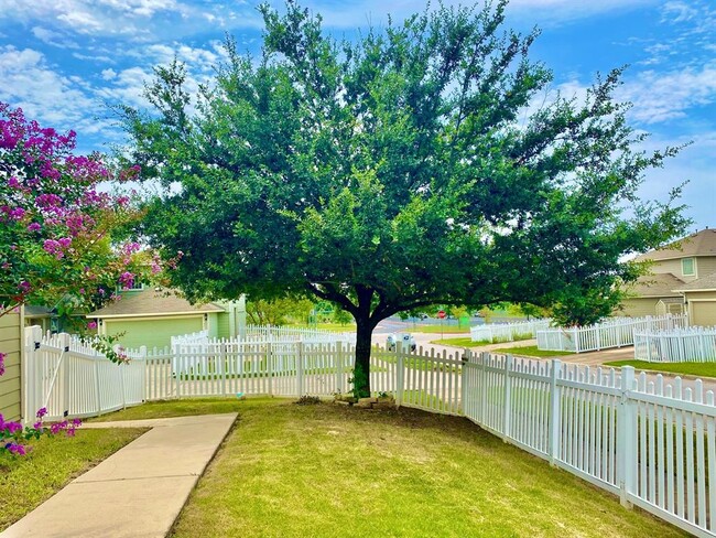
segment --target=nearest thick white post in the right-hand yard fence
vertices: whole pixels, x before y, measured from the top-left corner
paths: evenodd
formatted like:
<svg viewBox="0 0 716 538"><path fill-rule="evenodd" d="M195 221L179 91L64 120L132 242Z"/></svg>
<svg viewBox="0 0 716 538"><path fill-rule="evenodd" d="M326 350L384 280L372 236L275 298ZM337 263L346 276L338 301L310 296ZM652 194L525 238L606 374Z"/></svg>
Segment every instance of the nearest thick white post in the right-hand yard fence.
<svg viewBox="0 0 716 538"><path fill-rule="evenodd" d="M634 491L637 481L637 407L631 399L634 384L634 369L621 368L621 396L617 407L617 484L619 501L630 508L629 495Z"/></svg>

